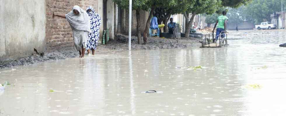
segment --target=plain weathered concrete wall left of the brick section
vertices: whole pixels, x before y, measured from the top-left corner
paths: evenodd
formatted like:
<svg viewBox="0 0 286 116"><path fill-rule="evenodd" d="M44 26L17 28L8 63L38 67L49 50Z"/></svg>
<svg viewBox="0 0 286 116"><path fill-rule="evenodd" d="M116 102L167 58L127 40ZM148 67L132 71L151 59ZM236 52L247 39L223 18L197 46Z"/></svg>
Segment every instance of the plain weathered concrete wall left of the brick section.
<svg viewBox="0 0 286 116"><path fill-rule="evenodd" d="M45 6L43 0L0 1L0 59L45 50Z"/></svg>

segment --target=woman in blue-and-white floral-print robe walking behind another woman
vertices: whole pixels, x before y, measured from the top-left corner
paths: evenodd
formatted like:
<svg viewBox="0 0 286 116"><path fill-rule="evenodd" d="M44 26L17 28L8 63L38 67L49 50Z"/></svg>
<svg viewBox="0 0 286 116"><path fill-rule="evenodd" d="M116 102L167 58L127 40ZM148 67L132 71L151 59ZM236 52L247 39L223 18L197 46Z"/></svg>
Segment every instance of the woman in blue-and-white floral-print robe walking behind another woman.
<svg viewBox="0 0 286 116"><path fill-rule="evenodd" d="M88 35L86 50L88 51L88 54L90 54L90 49L91 49L92 55L94 55L99 40L99 29L100 29L101 19L92 6L88 6L86 12L89 15L90 25L91 25L90 26L91 33Z"/></svg>

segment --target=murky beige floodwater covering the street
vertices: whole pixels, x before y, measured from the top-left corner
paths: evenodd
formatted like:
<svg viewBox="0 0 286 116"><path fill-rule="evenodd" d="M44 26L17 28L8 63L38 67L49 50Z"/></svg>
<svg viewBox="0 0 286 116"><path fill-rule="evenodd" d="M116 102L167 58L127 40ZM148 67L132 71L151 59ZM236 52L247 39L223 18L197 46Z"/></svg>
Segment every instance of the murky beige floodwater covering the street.
<svg viewBox="0 0 286 116"><path fill-rule="evenodd" d="M118 52L1 69L0 83L11 85L0 93L0 116L286 115L286 48L279 47L285 37L280 30L231 32L227 48Z"/></svg>

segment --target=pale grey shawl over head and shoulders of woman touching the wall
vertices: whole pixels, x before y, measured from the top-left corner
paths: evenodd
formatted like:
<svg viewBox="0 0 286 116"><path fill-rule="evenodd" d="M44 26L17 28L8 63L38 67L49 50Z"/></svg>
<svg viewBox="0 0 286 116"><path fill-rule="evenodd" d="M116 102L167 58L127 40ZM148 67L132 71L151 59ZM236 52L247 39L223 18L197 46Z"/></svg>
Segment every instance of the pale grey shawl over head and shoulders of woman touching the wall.
<svg viewBox="0 0 286 116"><path fill-rule="evenodd" d="M73 10L77 10L79 12L78 15L74 14ZM74 6L71 12L66 14L67 21L72 28L81 31L91 32L90 30L90 19L86 11L81 9L79 6Z"/></svg>

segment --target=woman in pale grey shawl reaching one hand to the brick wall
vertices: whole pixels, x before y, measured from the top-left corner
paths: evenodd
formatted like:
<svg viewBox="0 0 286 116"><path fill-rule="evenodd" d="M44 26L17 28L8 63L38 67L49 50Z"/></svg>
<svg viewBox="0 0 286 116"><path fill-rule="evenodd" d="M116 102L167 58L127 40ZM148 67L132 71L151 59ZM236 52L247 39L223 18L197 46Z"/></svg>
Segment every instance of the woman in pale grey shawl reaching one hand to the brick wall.
<svg viewBox="0 0 286 116"><path fill-rule="evenodd" d="M66 18L69 21L73 32L74 46L79 51L79 57L83 58L86 51L86 41L91 32L90 19L86 11L79 6L74 6L71 12L65 15L53 13L54 16Z"/></svg>

